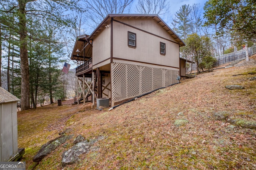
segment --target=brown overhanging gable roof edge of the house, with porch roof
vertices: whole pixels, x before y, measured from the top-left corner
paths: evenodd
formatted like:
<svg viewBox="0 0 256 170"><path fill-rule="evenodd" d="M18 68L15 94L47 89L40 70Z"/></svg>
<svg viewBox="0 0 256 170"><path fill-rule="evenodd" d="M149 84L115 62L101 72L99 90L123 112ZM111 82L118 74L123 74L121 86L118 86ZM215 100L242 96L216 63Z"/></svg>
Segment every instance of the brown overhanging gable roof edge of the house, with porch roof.
<svg viewBox="0 0 256 170"><path fill-rule="evenodd" d="M114 20L116 18L152 18L153 20L156 20L156 22L161 25L161 27L165 29L166 32L168 32L175 39L175 41L177 41L180 47L185 46L185 43L182 41L182 39L180 39L180 37L156 14L108 14L108 16L106 16L106 18L100 23L100 25L98 25L98 27L92 32L90 36L80 35L77 37L71 56L72 60L81 61L84 59L82 56L76 56L77 53L75 53L77 49L82 51L81 49L84 48L84 43L87 45L85 48L87 48L86 51L88 51L88 54L85 54L85 61L92 57L92 49L90 49L91 46L88 45L88 41L94 39L94 37L96 37L98 33L100 33L105 28L106 25L109 25L111 18Z"/></svg>

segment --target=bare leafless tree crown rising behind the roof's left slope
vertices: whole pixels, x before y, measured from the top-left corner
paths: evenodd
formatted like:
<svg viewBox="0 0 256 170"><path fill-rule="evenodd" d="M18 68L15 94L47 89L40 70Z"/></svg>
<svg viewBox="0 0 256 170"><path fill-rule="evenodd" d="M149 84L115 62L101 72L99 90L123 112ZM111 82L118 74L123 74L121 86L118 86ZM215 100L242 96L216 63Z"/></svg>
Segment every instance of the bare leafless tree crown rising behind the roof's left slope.
<svg viewBox="0 0 256 170"><path fill-rule="evenodd" d="M85 0L85 2L87 9L85 14L90 20L87 23L95 29L108 14L129 13L133 0Z"/></svg>

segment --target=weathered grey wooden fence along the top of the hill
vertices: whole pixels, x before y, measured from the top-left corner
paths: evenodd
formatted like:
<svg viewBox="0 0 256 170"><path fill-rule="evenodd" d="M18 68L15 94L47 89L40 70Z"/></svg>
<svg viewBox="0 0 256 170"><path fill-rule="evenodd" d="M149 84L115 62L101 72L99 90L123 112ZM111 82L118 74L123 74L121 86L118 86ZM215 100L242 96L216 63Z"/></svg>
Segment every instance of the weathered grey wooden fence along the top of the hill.
<svg viewBox="0 0 256 170"><path fill-rule="evenodd" d="M249 56L253 55L256 53L256 46L248 47L248 53ZM217 59L217 62L214 63L214 66L218 66L221 64L226 64L226 63L232 63L235 61L240 61L246 58L246 52L245 50L239 50L233 53L228 53L224 55L220 55L215 57ZM195 68L196 67L196 68ZM192 64L192 70L197 69L197 64Z"/></svg>

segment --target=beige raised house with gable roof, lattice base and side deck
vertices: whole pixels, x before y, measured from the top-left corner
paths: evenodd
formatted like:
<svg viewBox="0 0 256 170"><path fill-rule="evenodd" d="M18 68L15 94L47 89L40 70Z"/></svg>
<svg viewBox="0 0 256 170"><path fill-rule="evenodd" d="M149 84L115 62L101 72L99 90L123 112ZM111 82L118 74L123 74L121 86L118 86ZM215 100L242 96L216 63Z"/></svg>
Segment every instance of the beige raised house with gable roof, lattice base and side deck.
<svg viewBox="0 0 256 170"><path fill-rule="evenodd" d="M157 15L109 14L91 35L76 39L72 60L80 96L133 98L178 82L184 42ZM86 81L91 78L90 84ZM86 90L90 89L90 90Z"/></svg>

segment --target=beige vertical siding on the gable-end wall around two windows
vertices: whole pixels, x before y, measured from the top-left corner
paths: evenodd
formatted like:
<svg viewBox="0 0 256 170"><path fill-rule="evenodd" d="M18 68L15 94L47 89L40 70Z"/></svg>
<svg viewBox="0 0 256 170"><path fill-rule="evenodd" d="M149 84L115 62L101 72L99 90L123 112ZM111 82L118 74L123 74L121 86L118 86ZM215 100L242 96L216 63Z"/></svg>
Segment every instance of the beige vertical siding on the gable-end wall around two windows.
<svg viewBox="0 0 256 170"><path fill-rule="evenodd" d="M150 33L172 39L154 20L122 20ZM136 48L128 47L128 31L136 33ZM114 22L113 57L152 64L179 67L179 45L164 38ZM160 54L160 42L166 44L166 55Z"/></svg>

